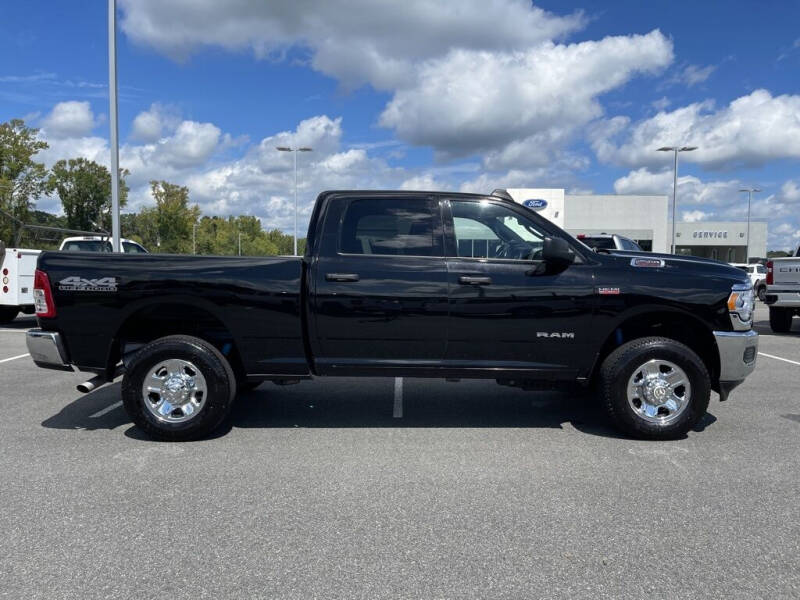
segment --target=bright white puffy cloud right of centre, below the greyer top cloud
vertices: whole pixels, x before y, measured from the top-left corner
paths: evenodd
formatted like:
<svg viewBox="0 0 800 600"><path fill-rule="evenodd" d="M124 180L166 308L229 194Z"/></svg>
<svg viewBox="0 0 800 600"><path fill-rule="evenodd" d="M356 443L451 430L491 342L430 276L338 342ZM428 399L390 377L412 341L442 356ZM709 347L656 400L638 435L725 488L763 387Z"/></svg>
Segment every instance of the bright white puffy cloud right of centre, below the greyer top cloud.
<svg viewBox="0 0 800 600"><path fill-rule="evenodd" d="M451 155L529 137L559 143L602 114L599 94L671 60L672 45L659 31L515 53L454 50L421 65L380 123L404 141ZM542 147L532 144L529 152Z"/></svg>

